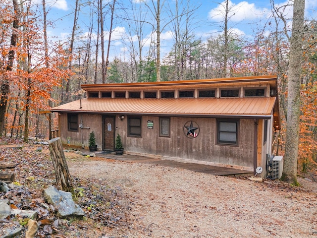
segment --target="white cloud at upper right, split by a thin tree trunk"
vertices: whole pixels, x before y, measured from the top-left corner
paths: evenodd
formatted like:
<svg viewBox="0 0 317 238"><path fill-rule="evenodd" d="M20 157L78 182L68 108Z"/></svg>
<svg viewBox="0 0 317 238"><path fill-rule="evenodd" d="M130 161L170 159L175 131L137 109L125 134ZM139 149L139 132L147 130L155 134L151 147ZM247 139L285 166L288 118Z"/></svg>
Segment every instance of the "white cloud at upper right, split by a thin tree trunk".
<svg viewBox="0 0 317 238"><path fill-rule="evenodd" d="M216 21L223 21L225 7L225 2L220 3L216 8L211 9L209 17ZM254 3L249 3L247 1L241 1L238 4L235 4L229 0L228 9L230 21L233 22L256 19L269 12L267 8L258 8Z"/></svg>

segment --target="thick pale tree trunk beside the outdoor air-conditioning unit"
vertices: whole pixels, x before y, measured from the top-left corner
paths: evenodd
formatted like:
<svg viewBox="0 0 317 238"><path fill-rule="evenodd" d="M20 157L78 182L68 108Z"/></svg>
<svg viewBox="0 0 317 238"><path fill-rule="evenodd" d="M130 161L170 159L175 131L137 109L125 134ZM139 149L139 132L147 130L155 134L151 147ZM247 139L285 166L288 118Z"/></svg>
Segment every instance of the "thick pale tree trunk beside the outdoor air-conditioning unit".
<svg viewBox="0 0 317 238"><path fill-rule="evenodd" d="M294 0L293 26L290 42L287 125L282 180L297 185L297 158L299 144L301 59L303 47L305 0Z"/></svg>

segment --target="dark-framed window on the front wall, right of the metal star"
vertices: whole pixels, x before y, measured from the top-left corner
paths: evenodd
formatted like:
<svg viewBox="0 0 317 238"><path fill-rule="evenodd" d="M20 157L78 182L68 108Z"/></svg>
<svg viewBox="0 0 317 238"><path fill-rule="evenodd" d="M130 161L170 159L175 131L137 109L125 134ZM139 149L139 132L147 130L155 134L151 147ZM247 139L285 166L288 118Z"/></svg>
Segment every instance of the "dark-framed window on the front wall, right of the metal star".
<svg viewBox="0 0 317 238"><path fill-rule="evenodd" d="M217 120L217 144L238 145L239 120Z"/></svg>

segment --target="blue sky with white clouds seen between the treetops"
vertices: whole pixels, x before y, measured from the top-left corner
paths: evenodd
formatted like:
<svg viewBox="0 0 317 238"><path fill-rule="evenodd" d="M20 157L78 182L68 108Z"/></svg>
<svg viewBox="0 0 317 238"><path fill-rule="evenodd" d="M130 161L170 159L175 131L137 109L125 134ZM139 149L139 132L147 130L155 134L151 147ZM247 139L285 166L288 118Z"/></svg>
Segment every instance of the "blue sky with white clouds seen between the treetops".
<svg viewBox="0 0 317 238"><path fill-rule="evenodd" d="M34 0L36 2L36 0ZM88 26L90 22L90 10L89 7L83 6L86 2L85 0L80 0L81 12L79 13L78 19L78 29L76 32L77 37L87 36ZM94 1L94 0L93 0ZM104 0L106 2L107 0ZM112 0L110 0L112 1ZM138 1L142 0L133 0L137 5L140 4ZM149 4L151 0L147 1ZM163 0L160 0L163 2ZM179 0L180 1L180 0ZM229 27L232 32L241 37L250 38L252 35L255 35L255 32L258 32L263 29L265 24L268 24L272 18L271 13L271 2L272 0L230 0L229 4L232 9L232 14L230 17ZM42 0L40 0L42 2ZM96 4L97 0L95 0ZM130 0L117 0L123 7L130 6ZM187 1L186 1L187 2ZM222 16L221 11L223 7L219 4L223 4L221 1L213 0L188 0L192 7L197 8L195 11L195 17L193 18L192 31L194 32L195 37L204 40L207 40L211 35L219 34L220 25ZM217 3L218 2L218 3ZM286 5L289 0L274 0L275 5L282 6ZM118 3L116 3L118 6ZM175 0L165 0L164 4L174 5ZM305 6L305 16L307 19L312 19L316 15L317 11L317 0L306 0ZM74 18L74 8L75 0L47 0L47 9L48 9L48 19L53 22L53 26L49 28L48 34L51 39L67 41L71 35L73 18ZM283 15L288 20L288 24L291 24L291 18L293 14L293 9L291 6L283 8ZM119 15L123 13L118 9L116 11ZM161 13L162 19L164 19L165 11L162 9ZM106 16L107 17L107 16ZM152 21L151 15L149 14L146 20ZM108 30L107 21L105 20L105 40L107 39ZM97 26L95 26L96 28ZM127 52L127 46L124 44L123 38L125 34L129 31L129 26L124 20L115 20L114 32L112 33L111 49L110 55L111 58L115 56L124 57ZM147 32L148 38L145 44L149 45L151 40L152 28L149 24L145 24L144 32ZM161 55L164 57L168 54L171 44L172 44L172 35L173 31L170 28L166 27L161 33ZM105 43L107 44L107 42Z"/></svg>

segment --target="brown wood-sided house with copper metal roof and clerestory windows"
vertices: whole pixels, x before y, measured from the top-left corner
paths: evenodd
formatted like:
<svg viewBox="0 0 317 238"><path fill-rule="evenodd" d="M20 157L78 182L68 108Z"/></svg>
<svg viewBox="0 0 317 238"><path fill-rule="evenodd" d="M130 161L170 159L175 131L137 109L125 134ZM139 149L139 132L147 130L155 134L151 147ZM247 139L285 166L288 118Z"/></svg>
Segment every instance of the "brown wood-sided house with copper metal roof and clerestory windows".
<svg viewBox="0 0 317 238"><path fill-rule="evenodd" d="M254 172L280 128L276 76L85 84L87 98L54 107L63 144Z"/></svg>

